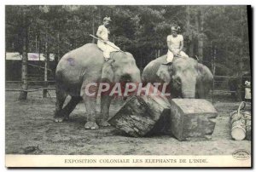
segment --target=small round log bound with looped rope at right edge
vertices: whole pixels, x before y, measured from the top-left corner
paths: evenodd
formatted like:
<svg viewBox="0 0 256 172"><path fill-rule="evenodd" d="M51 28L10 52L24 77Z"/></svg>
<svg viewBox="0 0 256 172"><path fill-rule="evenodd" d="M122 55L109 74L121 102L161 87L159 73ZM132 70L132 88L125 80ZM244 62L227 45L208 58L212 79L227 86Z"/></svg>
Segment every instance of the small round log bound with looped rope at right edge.
<svg viewBox="0 0 256 172"><path fill-rule="evenodd" d="M251 140L251 113L242 111L245 106L241 102L238 110L230 113L230 134L234 140Z"/></svg>

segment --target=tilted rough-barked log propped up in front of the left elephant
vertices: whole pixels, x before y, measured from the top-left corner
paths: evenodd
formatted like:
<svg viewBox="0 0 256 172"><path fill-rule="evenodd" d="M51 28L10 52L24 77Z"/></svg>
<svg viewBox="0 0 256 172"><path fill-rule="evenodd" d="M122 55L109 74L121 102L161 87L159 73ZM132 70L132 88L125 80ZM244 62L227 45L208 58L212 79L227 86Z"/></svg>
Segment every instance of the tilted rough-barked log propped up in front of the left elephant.
<svg viewBox="0 0 256 172"><path fill-rule="evenodd" d="M108 123L128 135L140 137L158 128L160 118L169 114L170 104L165 96L133 95Z"/></svg>

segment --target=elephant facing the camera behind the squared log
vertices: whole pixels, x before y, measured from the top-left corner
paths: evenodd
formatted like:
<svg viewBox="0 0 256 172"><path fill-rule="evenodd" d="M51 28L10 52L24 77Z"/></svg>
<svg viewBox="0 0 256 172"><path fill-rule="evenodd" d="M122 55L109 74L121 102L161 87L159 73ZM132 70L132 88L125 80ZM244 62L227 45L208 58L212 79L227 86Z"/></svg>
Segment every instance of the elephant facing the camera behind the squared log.
<svg viewBox="0 0 256 172"><path fill-rule="evenodd" d="M166 55L152 60L143 70L143 83L167 83L171 96L205 98L212 87L212 72L193 58L179 57L172 66L162 65Z"/></svg>

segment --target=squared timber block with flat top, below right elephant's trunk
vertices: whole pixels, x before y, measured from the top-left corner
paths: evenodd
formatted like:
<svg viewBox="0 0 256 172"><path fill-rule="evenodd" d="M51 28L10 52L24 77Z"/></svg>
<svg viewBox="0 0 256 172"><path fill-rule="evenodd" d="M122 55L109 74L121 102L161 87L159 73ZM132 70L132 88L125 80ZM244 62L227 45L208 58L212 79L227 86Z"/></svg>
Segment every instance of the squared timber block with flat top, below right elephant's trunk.
<svg viewBox="0 0 256 172"><path fill-rule="evenodd" d="M171 131L177 140L212 138L218 112L203 99L171 100Z"/></svg>

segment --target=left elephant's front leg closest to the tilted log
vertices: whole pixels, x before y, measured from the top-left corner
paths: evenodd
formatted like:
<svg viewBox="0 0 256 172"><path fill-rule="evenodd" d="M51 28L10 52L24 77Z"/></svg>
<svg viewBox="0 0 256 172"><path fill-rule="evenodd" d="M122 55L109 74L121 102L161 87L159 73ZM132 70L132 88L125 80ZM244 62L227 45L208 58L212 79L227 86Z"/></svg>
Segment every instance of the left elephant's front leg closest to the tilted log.
<svg viewBox="0 0 256 172"><path fill-rule="evenodd" d="M100 126L107 127L110 124L108 123L109 118L109 106L111 104L111 100L113 99L113 96L109 95L102 95L101 96L101 114L102 118L99 122Z"/></svg>

